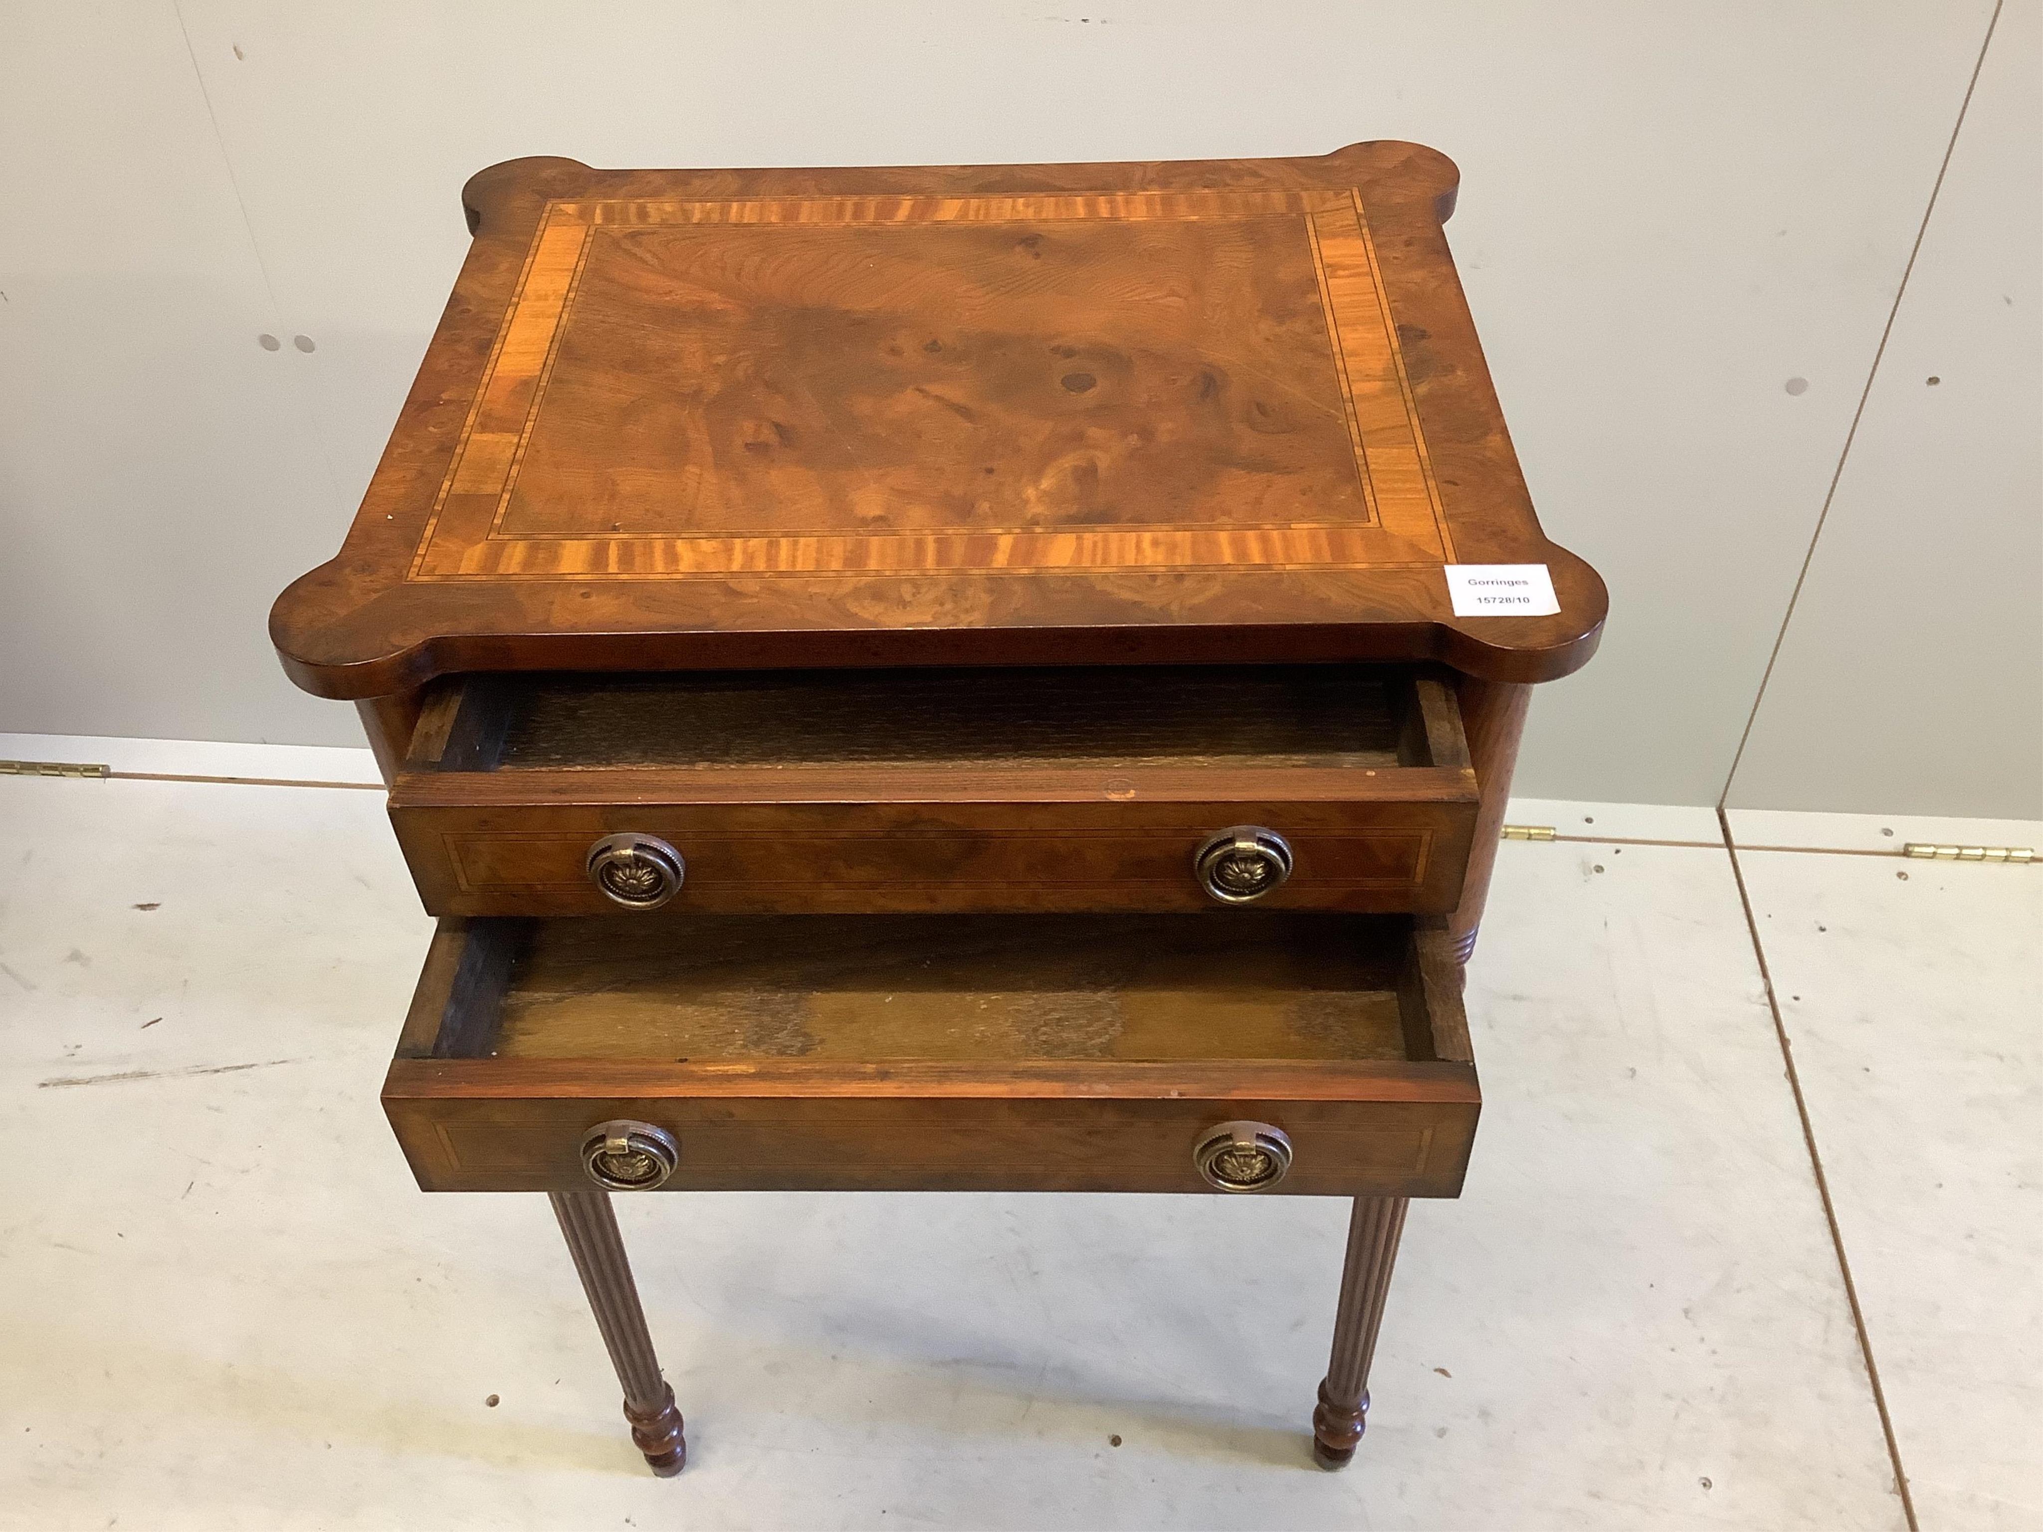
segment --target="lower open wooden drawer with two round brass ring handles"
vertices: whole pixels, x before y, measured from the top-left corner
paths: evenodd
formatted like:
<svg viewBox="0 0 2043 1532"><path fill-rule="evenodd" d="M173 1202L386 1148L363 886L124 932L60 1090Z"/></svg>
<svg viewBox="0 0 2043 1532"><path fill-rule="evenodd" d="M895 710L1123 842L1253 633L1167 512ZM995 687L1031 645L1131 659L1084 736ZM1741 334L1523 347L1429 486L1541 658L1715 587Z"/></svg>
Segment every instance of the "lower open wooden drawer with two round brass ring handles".
<svg viewBox="0 0 2043 1532"><path fill-rule="evenodd" d="M1408 917L443 921L384 1109L427 1191L1453 1197L1459 985Z"/></svg>

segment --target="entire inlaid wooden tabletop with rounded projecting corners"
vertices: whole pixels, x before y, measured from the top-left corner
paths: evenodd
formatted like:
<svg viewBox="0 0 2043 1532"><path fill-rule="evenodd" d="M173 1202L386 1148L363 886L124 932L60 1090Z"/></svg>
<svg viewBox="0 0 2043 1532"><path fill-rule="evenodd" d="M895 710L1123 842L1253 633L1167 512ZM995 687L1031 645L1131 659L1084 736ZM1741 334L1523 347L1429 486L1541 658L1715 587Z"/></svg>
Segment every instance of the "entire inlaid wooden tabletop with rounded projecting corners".
<svg viewBox="0 0 2043 1532"><path fill-rule="evenodd" d="M325 695L472 668L1587 658L1440 241L1453 167L498 165L343 556ZM1444 562L1549 562L1457 619ZM975 637L975 633L979 637ZM999 635L989 643L991 635Z"/></svg>

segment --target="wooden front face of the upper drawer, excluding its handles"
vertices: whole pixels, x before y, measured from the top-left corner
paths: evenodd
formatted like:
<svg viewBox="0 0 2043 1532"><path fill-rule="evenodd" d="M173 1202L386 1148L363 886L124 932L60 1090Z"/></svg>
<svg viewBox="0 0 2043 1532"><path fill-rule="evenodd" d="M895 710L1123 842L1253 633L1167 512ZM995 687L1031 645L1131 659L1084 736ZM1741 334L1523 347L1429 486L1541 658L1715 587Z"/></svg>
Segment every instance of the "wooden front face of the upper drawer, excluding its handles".
<svg viewBox="0 0 2043 1532"><path fill-rule="evenodd" d="M862 913L1214 905L1199 848L1232 825L1285 837L1273 909L1444 913L1461 895L1467 803L392 803L435 915L603 915L590 848L654 835L684 872L672 911Z"/></svg>

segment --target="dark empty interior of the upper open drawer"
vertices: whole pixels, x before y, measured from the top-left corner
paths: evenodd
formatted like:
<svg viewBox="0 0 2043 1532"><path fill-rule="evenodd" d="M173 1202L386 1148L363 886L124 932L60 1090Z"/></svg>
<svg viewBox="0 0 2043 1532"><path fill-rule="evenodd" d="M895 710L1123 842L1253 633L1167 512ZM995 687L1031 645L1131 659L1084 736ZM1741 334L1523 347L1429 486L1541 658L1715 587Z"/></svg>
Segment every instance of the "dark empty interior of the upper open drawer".
<svg viewBox="0 0 2043 1532"><path fill-rule="evenodd" d="M413 770L1467 766L1446 686L1393 666L460 676Z"/></svg>

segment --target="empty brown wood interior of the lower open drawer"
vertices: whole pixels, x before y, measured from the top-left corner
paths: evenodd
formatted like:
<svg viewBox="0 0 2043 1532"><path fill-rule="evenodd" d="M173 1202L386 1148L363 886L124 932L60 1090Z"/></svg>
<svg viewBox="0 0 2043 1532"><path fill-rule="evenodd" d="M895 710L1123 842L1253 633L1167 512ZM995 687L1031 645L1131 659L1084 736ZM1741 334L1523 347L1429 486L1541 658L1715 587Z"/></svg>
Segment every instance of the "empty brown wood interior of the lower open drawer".
<svg viewBox="0 0 2043 1532"><path fill-rule="evenodd" d="M490 923L476 923L490 925ZM1436 1058L1410 921L629 915L505 921L433 1052L486 1058ZM482 972L494 970L494 972Z"/></svg>

